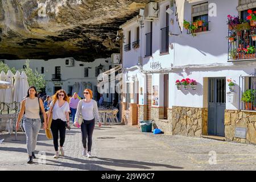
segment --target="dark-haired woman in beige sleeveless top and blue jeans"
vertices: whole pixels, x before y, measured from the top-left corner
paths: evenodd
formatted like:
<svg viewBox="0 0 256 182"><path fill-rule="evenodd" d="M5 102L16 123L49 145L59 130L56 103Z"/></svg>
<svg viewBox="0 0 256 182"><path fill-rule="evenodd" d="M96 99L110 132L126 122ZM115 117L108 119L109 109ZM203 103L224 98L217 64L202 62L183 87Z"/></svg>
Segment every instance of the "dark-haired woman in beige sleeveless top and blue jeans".
<svg viewBox="0 0 256 182"><path fill-rule="evenodd" d="M16 130L19 129L19 122L23 117L23 127L27 138L27 154L28 154L28 164L32 163L32 158L35 156L35 147L38 139L38 133L41 128L41 119L39 112L42 112L44 116L44 129L47 127L46 112L44 111L43 101L38 98L36 94L35 86L30 86L27 91L27 97L22 101L22 106L19 112L18 121L16 123Z"/></svg>

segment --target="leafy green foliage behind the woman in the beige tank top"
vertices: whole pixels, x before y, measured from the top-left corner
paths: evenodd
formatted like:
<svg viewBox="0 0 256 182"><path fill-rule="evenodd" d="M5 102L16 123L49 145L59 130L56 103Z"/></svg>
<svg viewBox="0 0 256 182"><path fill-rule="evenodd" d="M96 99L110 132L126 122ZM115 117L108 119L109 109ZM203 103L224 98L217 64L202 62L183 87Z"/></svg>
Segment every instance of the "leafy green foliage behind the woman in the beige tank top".
<svg viewBox="0 0 256 182"><path fill-rule="evenodd" d="M28 85L34 85L36 87L36 90L40 92L40 89L46 87L46 80L44 80L44 75L39 74L37 71L33 71L30 68L29 60L26 61L25 65L26 68L22 69L20 72L24 71L27 75Z"/></svg>

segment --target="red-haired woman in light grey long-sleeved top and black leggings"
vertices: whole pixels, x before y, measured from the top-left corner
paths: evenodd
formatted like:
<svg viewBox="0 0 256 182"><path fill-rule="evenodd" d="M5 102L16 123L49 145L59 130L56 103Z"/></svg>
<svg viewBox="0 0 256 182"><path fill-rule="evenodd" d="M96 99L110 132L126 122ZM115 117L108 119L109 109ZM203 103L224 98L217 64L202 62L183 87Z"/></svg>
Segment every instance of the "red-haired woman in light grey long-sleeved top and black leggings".
<svg viewBox="0 0 256 182"><path fill-rule="evenodd" d="M75 125L77 125L77 119L79 115L82 114L83 122L81 124L82 131L82 145L84 146L84 150L82 151L83 156L87 156L88 158L92 157L92 134L95 126L95 122L100 123L100 116L98 115L98 106L97 102L94 101L92 90L85 89L84 90L84 100L79 101L79 105L77 106L76 117L75 117ZM86 138L88 137L88 146L86 146Z"/></svg>

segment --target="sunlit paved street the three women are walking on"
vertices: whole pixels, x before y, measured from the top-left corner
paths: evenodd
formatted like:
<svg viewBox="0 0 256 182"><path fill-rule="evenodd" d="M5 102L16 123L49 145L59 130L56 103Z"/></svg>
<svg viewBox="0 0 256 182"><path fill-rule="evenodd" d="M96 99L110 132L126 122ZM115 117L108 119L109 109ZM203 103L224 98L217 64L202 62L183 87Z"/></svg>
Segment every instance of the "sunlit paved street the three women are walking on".
<svg viewBox="0 0 256 182"><path fill-rule="evenodd" d="M137 127L96 126L93 158L90 159L81 155L80 129L73 127L67 131L65 156L59 159L53 159L53 142L41 130L36 154L44 151L46 164L40 164L38 159L34 159L34 164L27 164L24 134L18 134L18 141L13 140L15 135L0 134L0 140L3 138L5 140L0 144L0 170L256 170L254 145L153 135L141 133Z"/></svg>

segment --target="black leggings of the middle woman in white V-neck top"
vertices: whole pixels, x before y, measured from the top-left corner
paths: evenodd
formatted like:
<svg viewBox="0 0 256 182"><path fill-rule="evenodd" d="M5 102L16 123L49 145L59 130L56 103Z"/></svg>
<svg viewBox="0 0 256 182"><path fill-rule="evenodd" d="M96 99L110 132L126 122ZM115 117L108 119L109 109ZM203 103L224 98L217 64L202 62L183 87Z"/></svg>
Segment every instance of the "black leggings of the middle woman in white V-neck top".
<svg viewBox="0 0 256 182"><path fill-rule="evenodd" d="M65 133L66 133L66 127L65 127L65 121L62 121L61 119L52 119L51 124L51 130L52 130L52 137L53 137L53 144L55 151L58 151L58 138L59 138L59 131L60 131L60 147L63 147L63 144L65 142Z"/></svg>

